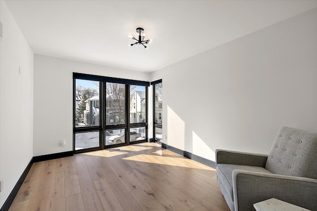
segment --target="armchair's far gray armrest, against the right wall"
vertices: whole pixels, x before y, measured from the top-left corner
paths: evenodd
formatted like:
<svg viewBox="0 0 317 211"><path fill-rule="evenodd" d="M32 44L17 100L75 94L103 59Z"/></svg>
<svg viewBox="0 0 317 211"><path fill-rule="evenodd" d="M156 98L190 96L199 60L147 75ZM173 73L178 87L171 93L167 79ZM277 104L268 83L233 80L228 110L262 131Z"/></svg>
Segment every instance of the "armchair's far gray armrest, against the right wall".
<svg viewBox="0 0 317 211"><path fill-rule="evenodd" d="M245 166L265 167L268 155L236 152L229 150L217 149L216 152L217 164L235 164Z"/></svg>

